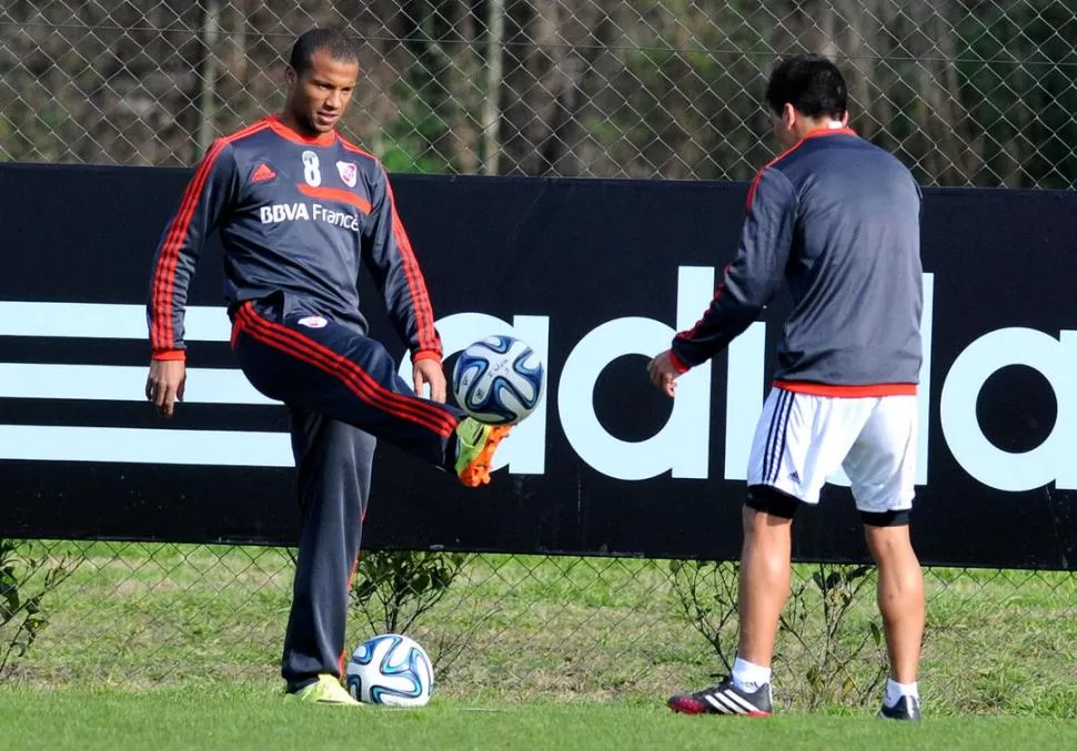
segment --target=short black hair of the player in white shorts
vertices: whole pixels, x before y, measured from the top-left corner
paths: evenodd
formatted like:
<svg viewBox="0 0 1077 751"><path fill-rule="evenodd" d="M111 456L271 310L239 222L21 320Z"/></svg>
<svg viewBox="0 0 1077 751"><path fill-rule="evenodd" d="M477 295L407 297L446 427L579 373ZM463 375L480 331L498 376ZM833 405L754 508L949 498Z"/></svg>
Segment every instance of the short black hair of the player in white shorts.
<svg viewBox="0 0 1077 751"><path fill-rule="evenodd" d="M848 89L842 71L819 54L798 54L783 60L766 87L766 103L777 114L786 104L808 118L841 118L848 106Z"/></svg>

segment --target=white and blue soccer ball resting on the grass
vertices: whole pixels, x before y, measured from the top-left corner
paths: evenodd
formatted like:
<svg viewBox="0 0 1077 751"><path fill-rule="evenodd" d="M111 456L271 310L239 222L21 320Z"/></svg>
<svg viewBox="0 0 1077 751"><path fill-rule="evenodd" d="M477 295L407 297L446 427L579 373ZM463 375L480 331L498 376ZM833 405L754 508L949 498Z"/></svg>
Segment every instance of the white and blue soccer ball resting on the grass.
<svg viewBox="0 0 1077 751"><path fill-rule="evenodd" d="M346 679L349 693L366 704L422 707L434 690L426 650L399 633L383 633L356 647Z"/></svg>

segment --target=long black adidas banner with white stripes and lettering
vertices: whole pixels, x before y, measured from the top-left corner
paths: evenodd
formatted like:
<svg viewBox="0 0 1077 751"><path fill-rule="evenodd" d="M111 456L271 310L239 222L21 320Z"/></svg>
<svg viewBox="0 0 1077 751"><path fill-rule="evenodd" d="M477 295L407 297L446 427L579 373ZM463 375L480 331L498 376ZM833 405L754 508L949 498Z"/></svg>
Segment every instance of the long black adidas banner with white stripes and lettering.
<svg viewBox="0 0 1077 751"><path fill-rule="evenodd" d="M190 175L0 165L0 537L295 541L286 410L235 367L215 237L189 300L185 399L165 420L143 396L151 258ZM471 342L512 333L547 382L490 486L381 445L364 547L736 558L787 303L675 400L646 363L708 304L747 186L393 183L446 372ZM925 191L913 536L926 564L1077 568L1075 236L1069 193ZM369 281L362 295L407 374ZM798 559L867 558L841 473L795 529Z"/></svg>

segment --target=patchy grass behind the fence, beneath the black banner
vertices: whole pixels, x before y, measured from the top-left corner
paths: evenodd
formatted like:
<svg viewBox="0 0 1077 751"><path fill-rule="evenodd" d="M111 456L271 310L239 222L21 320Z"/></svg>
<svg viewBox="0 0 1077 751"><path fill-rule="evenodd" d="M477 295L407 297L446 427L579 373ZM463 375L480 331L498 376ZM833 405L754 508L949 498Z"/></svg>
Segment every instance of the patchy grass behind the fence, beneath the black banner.
<svg viewBox="0 0 1077 751"><path fill-rule="evenodd" d="M82 559L44 605L50 619L3 681L24 689L272 691L288 616L288 551L227 546L37 544ZM864 582L832 645L827 696L809 684L825 622L812 566L802 631L778 641L776 700L785 710L864 711L885 660ZM927 572L922 692L934 717L1077 718L1077 577L1030 571ZM712 590L713 592L713 586ZM707 590L704 590L707 595ZM706 602L704 602L706 605ZM379 629L358 610L348 643ZM654 703L713 682L714 650L686 619L668 561L477 556L409 628L435 658L447 701ZM0 643L4 631L0 629ZM726 648L734 638L723 630ZM845 657L843 657L845 656ZM836 664L836 667L835 667ZM3 682L0 682L2 684ZM844 692L847 689L847 692Z"/></svg>

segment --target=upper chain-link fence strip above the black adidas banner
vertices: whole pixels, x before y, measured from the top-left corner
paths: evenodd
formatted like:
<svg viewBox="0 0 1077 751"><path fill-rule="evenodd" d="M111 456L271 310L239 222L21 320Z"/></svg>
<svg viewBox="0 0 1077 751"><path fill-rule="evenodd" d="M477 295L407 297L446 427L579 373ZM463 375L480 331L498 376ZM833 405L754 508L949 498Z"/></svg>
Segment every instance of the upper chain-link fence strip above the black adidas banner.
<svg viewBox="0 0 1077 751"><path fill-rule="evenodd" d="M0 158L192 164L344 26L345 131L391 171L749 179L774 60L842 65L853 124L925 184L1069 187L1070 0L8 0Z"/></svg>

